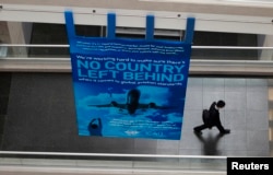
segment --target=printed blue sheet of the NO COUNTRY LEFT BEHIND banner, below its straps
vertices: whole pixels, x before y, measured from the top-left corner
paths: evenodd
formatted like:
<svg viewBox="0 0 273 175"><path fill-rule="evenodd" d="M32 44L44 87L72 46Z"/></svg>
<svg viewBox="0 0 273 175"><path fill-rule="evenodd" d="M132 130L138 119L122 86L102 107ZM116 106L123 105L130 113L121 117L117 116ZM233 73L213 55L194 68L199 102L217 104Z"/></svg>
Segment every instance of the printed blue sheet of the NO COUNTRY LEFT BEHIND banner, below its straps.
<svg viewBox="0 0 273 175"><path fill-rule="evenodd" d="M71 37L80 136L179 140L191 44Z"/></svg>

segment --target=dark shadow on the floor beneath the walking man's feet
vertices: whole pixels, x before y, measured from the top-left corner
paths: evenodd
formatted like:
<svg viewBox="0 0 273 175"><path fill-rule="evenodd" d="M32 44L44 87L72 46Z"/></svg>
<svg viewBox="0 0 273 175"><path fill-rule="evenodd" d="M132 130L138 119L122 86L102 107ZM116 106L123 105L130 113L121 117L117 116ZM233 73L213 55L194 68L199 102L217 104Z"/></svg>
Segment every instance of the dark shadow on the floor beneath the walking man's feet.
<svg viewBox="0 0 273 175"><path fill-rule="evenodd" d="M223 133L217 133L216 136L211 132L204 138L202 135L195 133L199 141L203 143L203 154L204 155L221 155L221 151L217 149L219 139L224 136Z"/></svg>

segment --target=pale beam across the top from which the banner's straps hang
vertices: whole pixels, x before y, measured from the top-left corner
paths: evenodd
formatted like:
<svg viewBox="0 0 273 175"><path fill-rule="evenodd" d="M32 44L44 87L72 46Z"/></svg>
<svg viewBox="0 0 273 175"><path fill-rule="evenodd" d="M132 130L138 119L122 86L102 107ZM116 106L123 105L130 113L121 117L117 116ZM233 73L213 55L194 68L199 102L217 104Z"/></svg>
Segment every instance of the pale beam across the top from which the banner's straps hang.
<svg viewBox="0 0 273 175"><path fill-rule="evenodd" d="M270 0L1 0L0 21L64 23L72 10L75 24L106 25L107 13L117 14L117 26L145 27L145 15L155 16L155 28L183 30L195 18L195 31L273 33Z"/></svg>

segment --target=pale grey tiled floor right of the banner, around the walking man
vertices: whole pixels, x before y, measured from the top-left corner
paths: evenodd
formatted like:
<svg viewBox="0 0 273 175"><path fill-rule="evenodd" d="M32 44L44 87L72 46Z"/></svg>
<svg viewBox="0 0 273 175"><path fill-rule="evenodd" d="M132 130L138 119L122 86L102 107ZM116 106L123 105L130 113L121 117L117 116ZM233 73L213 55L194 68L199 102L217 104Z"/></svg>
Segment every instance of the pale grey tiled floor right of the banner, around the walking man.
<svg viewBox="0 0 273 175"><path fill-rule="evenodd" d="M213 128L194 137L191 129L201 122L201 110L217 100L226 102L221 118L232 133L219 137ZM180 154L268 156L268 115L266 79L191 78Z"/></svg>

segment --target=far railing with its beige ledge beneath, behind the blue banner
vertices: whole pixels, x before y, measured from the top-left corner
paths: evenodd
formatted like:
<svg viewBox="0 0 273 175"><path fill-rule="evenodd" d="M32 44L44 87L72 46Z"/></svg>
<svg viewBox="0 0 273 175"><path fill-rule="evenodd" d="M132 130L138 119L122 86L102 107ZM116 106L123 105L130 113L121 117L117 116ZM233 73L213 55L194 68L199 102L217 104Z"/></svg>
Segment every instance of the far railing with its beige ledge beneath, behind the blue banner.
<svg viewBox="0 0 273 175"><path fill-rule="evenodd" d="M69 45L0 45L0 71L71 72ZM192 46L190 74L273 75L273 47Z"/></svg>

